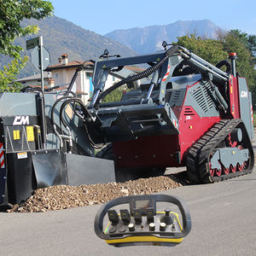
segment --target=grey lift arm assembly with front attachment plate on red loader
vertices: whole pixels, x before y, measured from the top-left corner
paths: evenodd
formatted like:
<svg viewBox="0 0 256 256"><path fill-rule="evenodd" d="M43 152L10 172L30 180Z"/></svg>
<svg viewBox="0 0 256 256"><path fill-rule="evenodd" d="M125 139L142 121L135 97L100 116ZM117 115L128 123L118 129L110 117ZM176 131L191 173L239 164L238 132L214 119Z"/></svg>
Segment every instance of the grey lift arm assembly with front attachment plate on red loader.
<svg viewBox="0 0 256 256"><path fill-rule="evenodd" d="M104 90L108 74L114 68L145 63L149 63L150 67L142 73L129 76ZM89 106L89 112L94 119L87 122L95 141L102 143L141 136L178 134L177 115L170 107L170 102L166 101L166 89L172 84L170 81L173 73L182 65L194 67L196 73L201 73L202 78L209 80L211 93L216 98L216 102L225 112L228 111L228 104L215 83L225 84L229 74L183 47L173 45L166 51L151 55L99 60L95 64L93 76L95 90ZM149 84L141 83L140 91L134 91L134 93L139 91L139 96L132 97L133 92L131 92L131 98L124 97L121 102L102 103L104 97L119 86L145 78L150 80ZM146 90L142 89L143 86Z"/></svg>

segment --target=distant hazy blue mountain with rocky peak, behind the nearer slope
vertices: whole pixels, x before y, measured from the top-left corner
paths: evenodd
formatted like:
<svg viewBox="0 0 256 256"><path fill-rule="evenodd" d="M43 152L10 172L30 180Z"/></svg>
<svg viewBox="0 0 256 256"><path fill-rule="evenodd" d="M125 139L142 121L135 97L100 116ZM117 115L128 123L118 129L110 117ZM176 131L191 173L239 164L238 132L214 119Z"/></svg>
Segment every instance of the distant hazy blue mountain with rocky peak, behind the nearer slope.
<svg viewBox="0 0 256 256"><path fill-rule="evenodd" d="M217 38L220 27L211 20L178 20L165 26L146 26L122 29L105 35L141 54L163 49L162 43L177 42L177 37L196 34L203 38Z"/></svg>

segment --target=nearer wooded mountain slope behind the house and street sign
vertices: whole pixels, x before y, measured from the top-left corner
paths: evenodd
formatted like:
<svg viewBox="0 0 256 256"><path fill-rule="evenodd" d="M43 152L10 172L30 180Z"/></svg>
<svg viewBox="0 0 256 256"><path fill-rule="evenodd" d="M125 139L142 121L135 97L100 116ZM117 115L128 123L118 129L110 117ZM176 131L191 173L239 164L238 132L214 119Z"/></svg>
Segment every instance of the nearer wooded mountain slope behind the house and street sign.
<svg viewBox="0 0 256 256"><path fill-rule="evenodd" d="M122 56L137 54L123 44L56 16L51 16L44 20L24 20L21 25L36 25L39 27L39 32L37 35L30 37L17 38L15 44L24 48L23 53L30 56L32 49L26 50L26 40L43 36L44 46L50 53L50 65L56 64L62 54L67 54L70 61L96 59L102 55L104 49L108 49L110 54ZM4 64L8 63L9 58L0 55L0 60L0 68L2 68ZM33 73L39 73L39 70L32 65L31 61L28 61L26 67L20 72L20 78L30 76Z"/></svg>

